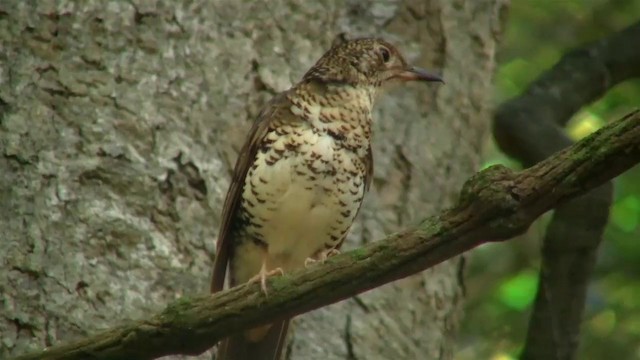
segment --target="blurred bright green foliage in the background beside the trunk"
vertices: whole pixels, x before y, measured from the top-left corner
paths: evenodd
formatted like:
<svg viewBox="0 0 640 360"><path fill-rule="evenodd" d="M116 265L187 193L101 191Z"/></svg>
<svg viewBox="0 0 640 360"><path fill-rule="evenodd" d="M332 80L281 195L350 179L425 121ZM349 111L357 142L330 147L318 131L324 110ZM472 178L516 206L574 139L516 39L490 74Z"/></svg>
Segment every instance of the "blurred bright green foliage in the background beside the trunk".
<svg viewBox="0 0 640 360"><path fill-rule="evenodd" d="M637 0L512 0L499 51L496 99L517 96L567 51L640 20ZM631 44L629 46L632 46ZM635 46L635 45L633 45ZM640 82L619 84L577 113L567 134L578 140L637 108ZM487 144L483 168L519 164ZM640 166L615 181L614 204L589 287L578 359L640 359ZM470 256L466 317L458 359L517 359L537 287L539 222L515 242Z"/></svg>

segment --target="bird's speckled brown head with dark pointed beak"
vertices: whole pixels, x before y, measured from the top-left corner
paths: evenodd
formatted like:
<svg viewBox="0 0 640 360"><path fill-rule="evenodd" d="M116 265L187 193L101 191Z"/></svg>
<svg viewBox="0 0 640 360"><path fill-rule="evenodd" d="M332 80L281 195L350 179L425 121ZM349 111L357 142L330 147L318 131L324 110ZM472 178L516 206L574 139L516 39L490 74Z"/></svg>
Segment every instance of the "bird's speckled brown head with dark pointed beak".
<svg viewBox="0 0 640 360"><path fill-rule="evenodd" d="M392 80L443 82L440 76L409 65L393 45L382 39L348 40L344 34L336 37L304 80L373 87Z"/></svg>

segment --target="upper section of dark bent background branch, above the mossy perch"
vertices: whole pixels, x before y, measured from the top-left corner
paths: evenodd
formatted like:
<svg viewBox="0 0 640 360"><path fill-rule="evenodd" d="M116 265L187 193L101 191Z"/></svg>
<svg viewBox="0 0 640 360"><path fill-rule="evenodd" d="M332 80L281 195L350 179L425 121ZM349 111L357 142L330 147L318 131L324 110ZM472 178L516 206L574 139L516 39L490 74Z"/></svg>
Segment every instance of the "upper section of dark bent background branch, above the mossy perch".
<svg viewBox="0 0 640 360"><path fill-rule="evenodd" d="M569 52L521 96L501 105L493 132L503 151L527 164L546 158L548 154L530 149L539 148L541 139L554 143L567 140L554 131L557 125L565 125L580 108L613 86L640 77L640 46L630 46L637 39L640 21L609 38ZM541 123L555 129L540 126Z"/></svg>

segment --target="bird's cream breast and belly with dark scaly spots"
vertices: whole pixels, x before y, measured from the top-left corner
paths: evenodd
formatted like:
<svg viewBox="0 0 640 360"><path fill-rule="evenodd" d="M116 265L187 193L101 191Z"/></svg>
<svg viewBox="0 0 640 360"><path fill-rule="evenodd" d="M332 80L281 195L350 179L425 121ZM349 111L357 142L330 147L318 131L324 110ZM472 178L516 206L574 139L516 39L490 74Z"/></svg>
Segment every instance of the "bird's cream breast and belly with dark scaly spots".
<svg viewBox="0 0 640 360"><path fill-rule="evenodd" d="M299 121L276 122L247 172L234 283L259 273L265 255L268 270L286 272L336 248L360 208L370 167L371 94L343 86L317 93L297 89L288 96L288 111Z"/></svg>

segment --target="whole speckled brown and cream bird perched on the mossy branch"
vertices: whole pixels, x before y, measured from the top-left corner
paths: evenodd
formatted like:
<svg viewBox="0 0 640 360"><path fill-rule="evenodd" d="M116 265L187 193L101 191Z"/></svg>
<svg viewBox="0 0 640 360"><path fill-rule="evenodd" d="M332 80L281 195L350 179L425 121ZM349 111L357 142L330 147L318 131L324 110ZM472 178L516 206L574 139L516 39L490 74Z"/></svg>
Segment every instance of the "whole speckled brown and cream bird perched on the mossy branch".
<svg viewBox="0 0 640 360"><path fill-rule="evenodd" d="M442 81L390 43L339 35L249 131L224 203L211 291L301 268L337 252L371 183L371 112L382 85ZM289 320L235 334L217 360L277 360Z"/></svg>

